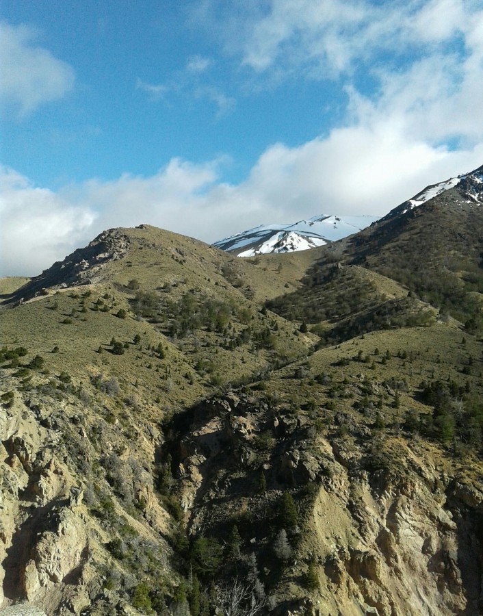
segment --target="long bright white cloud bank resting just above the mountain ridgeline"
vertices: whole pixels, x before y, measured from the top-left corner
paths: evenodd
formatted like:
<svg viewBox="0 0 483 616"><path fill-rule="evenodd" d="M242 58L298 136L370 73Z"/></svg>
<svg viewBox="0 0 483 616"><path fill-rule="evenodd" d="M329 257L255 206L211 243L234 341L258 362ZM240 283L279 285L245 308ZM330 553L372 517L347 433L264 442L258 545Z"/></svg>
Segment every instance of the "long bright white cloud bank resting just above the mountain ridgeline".
<svg viewBox="0 0 483 616"><path fill-rule="evenodd" d="M336 129L296 148L270 146L239 184L226 162L181 159L149 177L92 179L60 192L3 170L0 275L34 275L103 229L142 222L213 242L263 222L315 214L386 214L428 183L480 165L483 144L447 151L408 141L397 126Z"/></svg>

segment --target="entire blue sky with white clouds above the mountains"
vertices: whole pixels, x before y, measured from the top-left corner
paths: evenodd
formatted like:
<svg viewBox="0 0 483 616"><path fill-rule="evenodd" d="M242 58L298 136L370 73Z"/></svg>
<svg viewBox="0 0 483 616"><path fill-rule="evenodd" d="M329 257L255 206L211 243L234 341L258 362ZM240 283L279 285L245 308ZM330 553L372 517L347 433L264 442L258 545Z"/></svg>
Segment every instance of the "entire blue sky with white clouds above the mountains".
<svg viewBox="0 0 483 616"><path fill-rule="evenodd" d="M2 0L0 275L382 215L483 164L480 0Z"/></svg>

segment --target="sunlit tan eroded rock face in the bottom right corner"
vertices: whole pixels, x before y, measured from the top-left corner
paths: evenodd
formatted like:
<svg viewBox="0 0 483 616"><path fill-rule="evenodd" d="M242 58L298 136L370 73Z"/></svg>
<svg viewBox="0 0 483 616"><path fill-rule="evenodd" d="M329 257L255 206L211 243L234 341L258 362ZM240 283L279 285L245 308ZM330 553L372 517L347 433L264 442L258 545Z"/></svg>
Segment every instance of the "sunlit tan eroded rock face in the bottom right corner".
<svg viewBox="0 0 483 616"><path fill-rule="evenodd" d="M357 600L384 616L479 613L478 527L461 528L468 510L454 500L452 485L434 492L420 478L408 477L374 491L361 478L345 489L339 485L338 493L348 496L337 502L322 490L314 507L316 535L326 554L322 588L328 593L322 594L334 609L358 614L355 605L350 608ZM452 508L445 509L449 502ZM477 511L471 515L481 515Z"/></svg>

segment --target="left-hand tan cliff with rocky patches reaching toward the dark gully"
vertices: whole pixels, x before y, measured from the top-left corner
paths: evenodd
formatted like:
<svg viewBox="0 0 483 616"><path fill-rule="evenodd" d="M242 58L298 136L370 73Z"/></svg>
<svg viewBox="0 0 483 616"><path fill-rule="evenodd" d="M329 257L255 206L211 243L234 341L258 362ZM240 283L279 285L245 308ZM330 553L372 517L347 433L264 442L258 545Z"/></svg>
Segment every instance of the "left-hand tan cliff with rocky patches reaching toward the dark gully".
<svg viewBox="0 0 483 616"><path fill-rule="evenodd" d="M112 469L119 481L129 483L133 501L142 503L128 513L125 503L106 489L99 496L96 485L93 493L92 463L99 452L89 433L98 409L86 408L73 396L56 398L16 395L0 415L0 606L27 602L48 615L79 615L91 608L92 613L110 613L122 604L116 593L106 596L105 588L106 546L118 538L119 525L128 528L129 519L131 538L163 552L160 572L170 551L162 537L169 531L169 516L153 497L157 431L151 426L146 435L138 435L140 442L131 439L131 449L120 431L104 434L106 457L116 457L120 466L122 458L131 457L137 470L133 476ZM118 458L116 451L123 455ZM130 610L125 613L137 613Z"/></svg>

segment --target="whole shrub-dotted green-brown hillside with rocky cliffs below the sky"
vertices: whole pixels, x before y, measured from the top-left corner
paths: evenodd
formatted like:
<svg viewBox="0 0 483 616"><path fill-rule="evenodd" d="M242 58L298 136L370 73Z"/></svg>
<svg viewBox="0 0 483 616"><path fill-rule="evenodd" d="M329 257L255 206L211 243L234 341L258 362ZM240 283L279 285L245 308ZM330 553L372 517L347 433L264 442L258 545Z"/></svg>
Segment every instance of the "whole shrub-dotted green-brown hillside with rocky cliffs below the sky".
<svg viewBox="0 0 483 616"><path fill-rule="evenodd" d="M480 613L473 176L304 253L112 229L5 291L0 606Z"/></svg>

